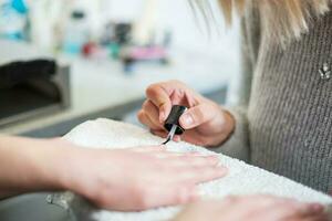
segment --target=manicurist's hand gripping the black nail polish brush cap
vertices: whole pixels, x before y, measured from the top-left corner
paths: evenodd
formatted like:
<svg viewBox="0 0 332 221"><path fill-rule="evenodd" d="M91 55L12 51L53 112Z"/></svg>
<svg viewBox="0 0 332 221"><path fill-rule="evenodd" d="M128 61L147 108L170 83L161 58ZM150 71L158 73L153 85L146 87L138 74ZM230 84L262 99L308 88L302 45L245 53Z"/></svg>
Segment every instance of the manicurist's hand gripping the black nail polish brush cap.
<svg viewBox="0 0 332 221"><path fill-rule="evenodd" d="M160 137L167 136L164 123L173 105L189 107L179 119L186 129L181 136L185 141L200 146L218 146L235 128L235 119L228 112L178 81L153 84L146 90L146 96L147 99L137 117L153 134ZM175 140L179 140L179 137L176 136Z"/></svg>

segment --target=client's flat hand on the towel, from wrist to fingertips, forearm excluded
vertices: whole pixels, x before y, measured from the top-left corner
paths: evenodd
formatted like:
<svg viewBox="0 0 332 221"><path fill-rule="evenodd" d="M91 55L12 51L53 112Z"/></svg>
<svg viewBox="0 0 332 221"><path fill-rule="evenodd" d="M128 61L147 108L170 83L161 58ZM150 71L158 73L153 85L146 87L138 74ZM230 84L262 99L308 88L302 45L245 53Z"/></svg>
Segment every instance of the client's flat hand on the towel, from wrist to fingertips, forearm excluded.
<svg viewBox="0 0 332 221"><path fill-rule="evenodd" d="M216 156L175 154L165 147L122 150L73 148L65 187L112 210L144 210L191 202L196 183L225 176Z"/></svg>

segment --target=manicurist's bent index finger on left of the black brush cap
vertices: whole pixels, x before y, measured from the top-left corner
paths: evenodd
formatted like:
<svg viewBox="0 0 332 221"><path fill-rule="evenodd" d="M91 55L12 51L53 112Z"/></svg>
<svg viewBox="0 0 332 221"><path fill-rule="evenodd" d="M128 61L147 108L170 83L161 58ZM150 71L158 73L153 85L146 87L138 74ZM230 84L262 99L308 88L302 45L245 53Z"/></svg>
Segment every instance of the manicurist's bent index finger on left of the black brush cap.
<svg viewBox="0 0 332 221"><path fill-rule="evenodd" d="M172 109L170 93L165 88L166 85L153 84L146 90L147 98L154 103L159 110L159 122L164 123Z"/></svg>

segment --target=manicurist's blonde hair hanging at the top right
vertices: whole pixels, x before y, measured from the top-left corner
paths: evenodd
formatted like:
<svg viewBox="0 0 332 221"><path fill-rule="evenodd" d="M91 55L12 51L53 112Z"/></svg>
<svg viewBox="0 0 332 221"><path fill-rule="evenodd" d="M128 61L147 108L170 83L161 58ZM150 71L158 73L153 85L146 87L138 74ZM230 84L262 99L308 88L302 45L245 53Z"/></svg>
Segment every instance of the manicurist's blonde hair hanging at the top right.
<svg viewBox="0 0 332 221"><path fill-rule="evenodd" d="M194 4L198 6L205 17L208 1L194 0ZM310 20L329 11L331 2L332 0L218 0L229 24L235 11L243 14L248 8L257 9L263 34L280 43L300 38L308 31Z"/></svg>

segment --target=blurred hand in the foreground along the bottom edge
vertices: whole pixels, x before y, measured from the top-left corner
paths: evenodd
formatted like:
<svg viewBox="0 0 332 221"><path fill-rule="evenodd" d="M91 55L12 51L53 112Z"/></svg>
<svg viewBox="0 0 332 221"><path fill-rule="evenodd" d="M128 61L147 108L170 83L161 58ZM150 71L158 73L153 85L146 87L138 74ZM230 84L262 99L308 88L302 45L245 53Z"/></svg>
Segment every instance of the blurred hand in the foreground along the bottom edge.
<svg viewBox="0 0 332 221"><path fill-rule="evenodd" d="M174 221L328 221L323 207L271 196L228 197L188 206Z"/></svg>

